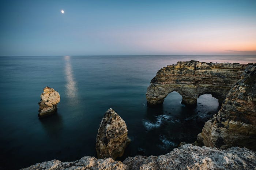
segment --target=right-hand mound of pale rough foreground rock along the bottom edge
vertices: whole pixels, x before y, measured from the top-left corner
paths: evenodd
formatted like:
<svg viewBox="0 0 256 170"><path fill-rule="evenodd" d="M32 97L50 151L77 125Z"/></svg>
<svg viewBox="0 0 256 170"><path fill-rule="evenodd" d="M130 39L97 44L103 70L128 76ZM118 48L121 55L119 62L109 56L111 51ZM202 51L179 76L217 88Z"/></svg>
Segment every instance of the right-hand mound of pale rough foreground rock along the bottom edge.
<svg viewBox="0 0 256 170"><path fill-rule="evenodd" d="M228 150L198 147L191 144L175 148L159 157L135 156L123 162L129 169L255 169L256 155L246 148Z"/></svg>

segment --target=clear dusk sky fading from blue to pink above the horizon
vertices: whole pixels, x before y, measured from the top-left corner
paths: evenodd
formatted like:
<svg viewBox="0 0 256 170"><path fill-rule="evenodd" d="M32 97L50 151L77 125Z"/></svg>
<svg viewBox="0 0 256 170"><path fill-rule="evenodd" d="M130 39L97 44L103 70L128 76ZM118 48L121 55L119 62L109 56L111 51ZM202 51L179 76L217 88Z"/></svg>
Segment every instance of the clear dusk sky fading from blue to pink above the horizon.
<svg viewBox="0 0 256 170"><path fill-rule="evenodd" d="M0 0L0 56L229 54L256 55L256 0Z"/></svg>

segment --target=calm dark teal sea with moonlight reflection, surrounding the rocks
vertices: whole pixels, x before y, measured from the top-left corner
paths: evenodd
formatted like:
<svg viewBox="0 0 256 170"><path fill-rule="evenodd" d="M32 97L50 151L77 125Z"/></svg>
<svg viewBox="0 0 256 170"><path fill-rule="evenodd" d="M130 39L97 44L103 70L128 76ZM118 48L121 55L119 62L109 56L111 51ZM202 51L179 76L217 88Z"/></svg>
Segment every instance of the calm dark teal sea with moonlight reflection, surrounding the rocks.
<svg viewBox="0 0 256 170"><path fill-rule="evenodd" d="M0 167L75 161L96 156L99 123L108 108L126 122L127 156L169 153L194 142L218 100L202 95L195 109L173 92L160 108L148 108L146 91L156 72L177 61L256 63L256 56L1 56ZM45 86L60 93L57 114L38 119Z"/></svg>

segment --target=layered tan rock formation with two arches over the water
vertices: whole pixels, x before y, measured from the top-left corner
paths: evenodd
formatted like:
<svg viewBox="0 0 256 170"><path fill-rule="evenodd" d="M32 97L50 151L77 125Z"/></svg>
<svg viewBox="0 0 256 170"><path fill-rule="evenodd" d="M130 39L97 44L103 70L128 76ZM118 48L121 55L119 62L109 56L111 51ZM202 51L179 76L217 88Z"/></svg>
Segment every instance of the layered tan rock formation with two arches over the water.
<svg viewBox="0 0 256 170"><path fill-rule="evenodd" d="M240 78L246 65L238 63L177 62L161 68L147 88L148 106L162 104L173 91L182 96L182 103L193 106L203 94L212 94L221 104L230 88Z"/></svg>

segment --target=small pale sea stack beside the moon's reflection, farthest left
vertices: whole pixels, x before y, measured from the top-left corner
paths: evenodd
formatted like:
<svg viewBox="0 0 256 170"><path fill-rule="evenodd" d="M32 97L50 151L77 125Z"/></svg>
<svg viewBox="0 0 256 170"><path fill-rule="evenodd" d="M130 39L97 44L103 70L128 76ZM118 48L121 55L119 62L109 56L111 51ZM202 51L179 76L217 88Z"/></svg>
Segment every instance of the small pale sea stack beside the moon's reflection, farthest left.
<svg viewBox="0 0 256 170"><path fill-rule="evenodd" d="M60 102L60 94L57 91L53 88L45 87L40 97L38 117L48 116L57 111L57 103Z"/></svg>

